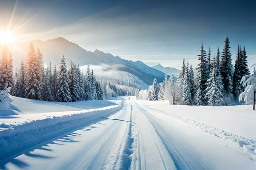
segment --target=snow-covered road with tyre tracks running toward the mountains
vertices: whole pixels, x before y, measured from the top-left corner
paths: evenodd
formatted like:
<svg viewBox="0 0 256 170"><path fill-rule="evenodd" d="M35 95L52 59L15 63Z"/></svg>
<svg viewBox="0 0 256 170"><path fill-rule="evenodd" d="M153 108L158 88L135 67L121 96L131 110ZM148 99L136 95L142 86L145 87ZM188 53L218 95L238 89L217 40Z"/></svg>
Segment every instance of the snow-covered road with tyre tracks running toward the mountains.
<svg viewBox="0 0 256 170"><path fill-rule="evenodd" d="M128 99L128 98L126 98ZM172 112L172 110L170 110ZM255 170L256 161L202 131L124 100L111 116L0 161L15 170Z"/></svg>

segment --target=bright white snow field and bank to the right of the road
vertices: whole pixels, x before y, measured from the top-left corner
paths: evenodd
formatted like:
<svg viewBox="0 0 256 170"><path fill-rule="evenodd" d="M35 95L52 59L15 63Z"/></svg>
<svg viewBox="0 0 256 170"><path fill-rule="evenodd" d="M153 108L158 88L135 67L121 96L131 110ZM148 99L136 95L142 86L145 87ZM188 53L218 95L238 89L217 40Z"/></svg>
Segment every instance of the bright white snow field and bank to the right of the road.
<svg viewBox="0 0 256 170"><path fill-rule="evenodd" d="M256 112L251 106L177 106L165 102L149 102L152 112L162 114L256 161Z"/></svg>

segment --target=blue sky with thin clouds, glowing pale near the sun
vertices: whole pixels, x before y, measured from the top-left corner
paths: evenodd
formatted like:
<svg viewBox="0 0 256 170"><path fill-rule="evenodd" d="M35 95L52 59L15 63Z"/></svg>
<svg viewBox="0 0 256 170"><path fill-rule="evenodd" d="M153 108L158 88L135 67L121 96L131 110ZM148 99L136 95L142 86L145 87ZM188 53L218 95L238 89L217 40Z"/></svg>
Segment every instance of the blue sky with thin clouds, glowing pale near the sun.
<svg viewBox="0 0 256 170"><path fill-rule="evenodd" d="M255 0L1 0L0 16L20 41L61 36L150 66L195 67L201 44L216 53L226 35L233 59L240 44L256 62Z"/></svg>

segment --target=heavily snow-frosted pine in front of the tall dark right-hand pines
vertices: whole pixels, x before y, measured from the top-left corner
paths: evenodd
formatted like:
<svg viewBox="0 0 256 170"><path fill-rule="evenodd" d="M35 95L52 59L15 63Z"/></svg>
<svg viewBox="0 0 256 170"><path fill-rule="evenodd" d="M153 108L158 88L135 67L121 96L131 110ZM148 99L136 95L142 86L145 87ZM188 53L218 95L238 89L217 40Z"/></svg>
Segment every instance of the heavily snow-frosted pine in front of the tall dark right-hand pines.
<svg viewBox="0 0 256 170"><path fill-rule="evenodd" d="M212 67L211 67L211 75L210 78L207 80L207 88L205 90L206 95L205 99L207 100L209 105L221 105L221 102L223 101L223 95L221 89L223 89L222 86L222 80L219 73L218 68L218 62L215 60L215 56L213 56L212 59Z"/></svg>

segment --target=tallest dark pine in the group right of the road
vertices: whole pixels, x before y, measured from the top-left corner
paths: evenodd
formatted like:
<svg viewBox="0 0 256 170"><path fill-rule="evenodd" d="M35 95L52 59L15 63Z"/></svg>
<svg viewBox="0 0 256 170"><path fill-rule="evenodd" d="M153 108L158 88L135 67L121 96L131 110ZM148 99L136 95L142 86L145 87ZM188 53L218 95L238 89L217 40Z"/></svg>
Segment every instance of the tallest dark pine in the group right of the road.
<svg viewBox="0 0 256 170"><path fill-rule="evenodd" d="M220 73L222 76L222 82L224 86L225 93L232 93L233 92L233 65L232 65L232 58L231 53L229 51L229 37L226 37L225 45L222 52L221 62L220 62Z"/></svg>

